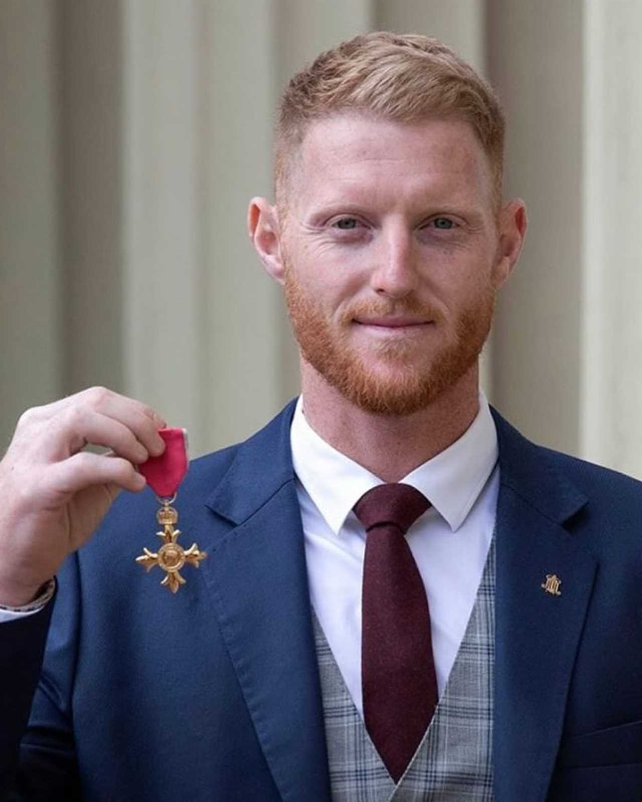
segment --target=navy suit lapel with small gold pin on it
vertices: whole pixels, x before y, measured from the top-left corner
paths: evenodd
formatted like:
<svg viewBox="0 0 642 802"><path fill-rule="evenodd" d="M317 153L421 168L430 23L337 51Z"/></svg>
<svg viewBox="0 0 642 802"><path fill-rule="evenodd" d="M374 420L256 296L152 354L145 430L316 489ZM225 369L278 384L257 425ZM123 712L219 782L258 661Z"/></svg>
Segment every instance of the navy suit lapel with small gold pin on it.
<svg viewBox="0 0 642 802"><path fill-rule="evenodd" d="M551 456L498 415L494 785L497 802L543 802L597 563L563 524L587 499ZM572 530L572 526L568 526ZM555 579L561 581L555 593Z"/></svg>

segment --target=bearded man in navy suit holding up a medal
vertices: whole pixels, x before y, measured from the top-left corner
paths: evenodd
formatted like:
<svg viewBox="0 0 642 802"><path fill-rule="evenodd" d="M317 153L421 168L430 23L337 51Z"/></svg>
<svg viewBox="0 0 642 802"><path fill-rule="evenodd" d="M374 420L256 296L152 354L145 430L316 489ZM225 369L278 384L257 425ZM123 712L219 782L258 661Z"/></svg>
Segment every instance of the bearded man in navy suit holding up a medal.
<svg viewBox="0 0 642 802"><path fill-rule="evenodd" d="M526 229L503 130L420 36L357 37L292 79L276 202L248 222L303 392L190 468L181 529L208 557L176 595L134 562L151 492L100 523L165 421L101 389L21 419L0 472L7 788L640 795L640 484L528 443L477 389Z"/></svg>

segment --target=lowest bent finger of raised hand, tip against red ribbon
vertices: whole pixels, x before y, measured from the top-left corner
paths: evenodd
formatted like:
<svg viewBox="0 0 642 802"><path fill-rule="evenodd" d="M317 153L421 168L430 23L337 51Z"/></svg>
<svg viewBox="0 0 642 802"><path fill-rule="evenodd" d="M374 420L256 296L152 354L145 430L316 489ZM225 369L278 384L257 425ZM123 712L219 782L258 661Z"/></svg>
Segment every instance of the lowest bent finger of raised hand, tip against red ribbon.
<svg viewBox="0 0 642 802"><path fill-rule="evenodd" d="M144 476L128 460L118 456L102 456L80 452L68 460L51 467L47 474L48 488L44 492L73 495L96 484L108 485L113 493L114 487L131 492L142 490L146 484Z"/></svg>

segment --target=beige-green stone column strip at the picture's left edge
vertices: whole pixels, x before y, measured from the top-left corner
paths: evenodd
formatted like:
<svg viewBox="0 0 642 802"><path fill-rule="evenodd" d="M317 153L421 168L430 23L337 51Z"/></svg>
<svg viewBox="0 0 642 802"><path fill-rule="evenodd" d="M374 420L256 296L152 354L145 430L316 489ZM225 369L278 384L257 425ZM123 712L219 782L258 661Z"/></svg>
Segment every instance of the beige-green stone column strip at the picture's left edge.
<svg viewBox="0 0 642 802"><path fill-rule="evenodd" d="M0 454L62 391L55 7L0 3Z"/></svg>

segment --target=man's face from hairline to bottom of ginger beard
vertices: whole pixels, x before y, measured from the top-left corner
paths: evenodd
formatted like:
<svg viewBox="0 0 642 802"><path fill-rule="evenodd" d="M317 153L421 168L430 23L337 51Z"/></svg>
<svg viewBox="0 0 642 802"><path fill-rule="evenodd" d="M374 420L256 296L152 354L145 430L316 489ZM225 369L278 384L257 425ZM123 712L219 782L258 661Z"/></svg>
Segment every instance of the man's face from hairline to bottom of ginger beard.
<svg viewBox="0 0 642 802"><path fill-rule="evenodd" d="M311 124L281 217L303 370L366 411L408 415L476 370L506 260L469 124Z"/></svg>

